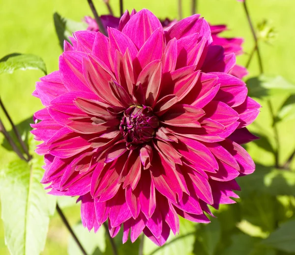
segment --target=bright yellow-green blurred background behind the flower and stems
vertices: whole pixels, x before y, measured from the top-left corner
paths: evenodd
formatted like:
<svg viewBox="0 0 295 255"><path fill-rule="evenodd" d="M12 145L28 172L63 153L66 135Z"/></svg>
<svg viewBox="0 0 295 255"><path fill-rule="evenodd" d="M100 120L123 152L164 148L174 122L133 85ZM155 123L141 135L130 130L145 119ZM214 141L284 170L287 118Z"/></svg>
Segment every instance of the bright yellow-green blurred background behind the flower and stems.
<svg viewBox="0 0 295 255"><path fill-rule="evenodd" d="M182 0L183 16L190 15L190 2L191 0ZM102 0L94 0L94 3L99 14L108 13ZM118 15L118 0L110 0L110 4L115 14ZM248 0L248 7L255 24L266 19L277 31L272 45L261 43L266 75L280 75L295 84L295 1ZM159 18L178 18L177 0L124 0L124 8L129 10L148 8ZM43 58L48 73L57 70L61 50L53 23L55 11L59 12L61 16L75 21L81 21L84 16L91 15L87 0L0 0L0 58L15 52L34 54ZM198 0L198 13L201 13L213 25L227 24L230 30L223 35L245 38L244 51L246 54L237 58L238 63L245 64L248 58L247 53L252 50L254 43L242 4L236 0ZM250 75L247 78L257 76L257 70L256 57L254 57L249 69ZM42 73L35 70L0 75L0 96L16 124L27 120L36 110L41 108L39 100L31 96L34 84L40 76ZM271 98L275 110L279 108L286 97L287 94L280 94ZM262 105L262 113L251 129L266 136L270 144L273 144L269 110L263 102ZM0 114L2 115L2 112ZM4 121L4 124L8 126L7 121ZM294 151L294 126L295 121L283 122L278 125L281 142L280 162L286 161ZM0 134L0 143L2 141L3 136ZM256 163L264 166L274 164L273 155L269 150L261 149L254 143L249 145L248 149ZM0 167L14 158L16 156L13 152L0 147ZM74 202L74 199L68 200L66 198L60 201L64 205L65 214L71 225L76 224L80 219L79 205L74 205ZM236 205L231 206L231 208L236 208ZM266 208L267 210L270 209ZM293 217L293 213L290 214L291 217ZM68 238L67 230L62 225L59 216L55 214L50 222L46 247L42 254L67 254ZM0 255L6 254L9 253L4 244L4 232L0 221Z"/></svg>

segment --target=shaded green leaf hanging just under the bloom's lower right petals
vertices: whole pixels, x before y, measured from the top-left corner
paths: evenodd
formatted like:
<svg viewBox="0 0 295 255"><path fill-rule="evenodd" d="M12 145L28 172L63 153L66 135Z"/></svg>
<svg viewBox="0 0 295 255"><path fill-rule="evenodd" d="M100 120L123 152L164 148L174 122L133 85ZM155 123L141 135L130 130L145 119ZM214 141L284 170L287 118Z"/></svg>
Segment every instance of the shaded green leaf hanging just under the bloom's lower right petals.
<svg viewBox="0 0 295 255"><path fill-rule="evenodd" d="M211 223L201 226L201 229L197 231L197 236L200 237L200 241L207 254L214 255L221 237L221 228L218 220L211 218Z"/></svg>

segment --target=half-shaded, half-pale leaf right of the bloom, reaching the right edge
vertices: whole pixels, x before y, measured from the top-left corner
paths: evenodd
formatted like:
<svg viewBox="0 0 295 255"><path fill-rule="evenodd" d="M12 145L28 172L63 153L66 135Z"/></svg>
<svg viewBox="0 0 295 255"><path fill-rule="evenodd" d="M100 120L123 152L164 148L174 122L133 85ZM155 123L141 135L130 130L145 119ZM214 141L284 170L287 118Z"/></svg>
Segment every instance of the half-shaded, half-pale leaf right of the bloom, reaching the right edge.
<svg viewBox="0 0 295 255"><path fill-rule="evenodd" d="M248 96L264 98L270 95L295 93L295 85L287 82L283 77L274 78L259 76L250 78L247 82Z"/></svg>

